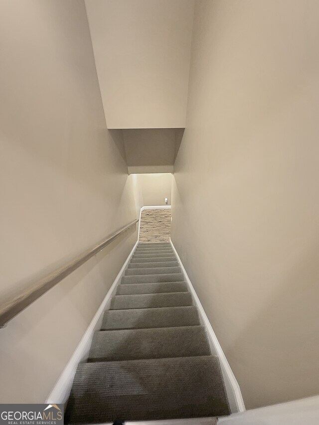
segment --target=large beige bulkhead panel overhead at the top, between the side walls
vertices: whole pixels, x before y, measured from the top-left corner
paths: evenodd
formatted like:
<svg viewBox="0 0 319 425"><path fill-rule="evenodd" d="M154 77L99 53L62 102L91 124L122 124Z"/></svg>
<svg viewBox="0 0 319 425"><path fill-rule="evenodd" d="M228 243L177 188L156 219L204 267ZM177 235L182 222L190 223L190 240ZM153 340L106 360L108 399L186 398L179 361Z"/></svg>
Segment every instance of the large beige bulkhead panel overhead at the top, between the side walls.
<svg viewBox="0 0 319 425"><path fill-rule="evenodd" d="M86 0L109 129L184 127L193 0Z"/></svg>

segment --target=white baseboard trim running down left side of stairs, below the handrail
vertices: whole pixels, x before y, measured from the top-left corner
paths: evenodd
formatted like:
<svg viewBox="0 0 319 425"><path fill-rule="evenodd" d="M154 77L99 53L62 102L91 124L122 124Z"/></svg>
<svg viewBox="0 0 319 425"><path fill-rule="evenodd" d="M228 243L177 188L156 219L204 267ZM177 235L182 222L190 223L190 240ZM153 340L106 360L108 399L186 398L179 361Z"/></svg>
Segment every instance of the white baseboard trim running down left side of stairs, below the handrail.
<svg viewBox="0 0 319 425"><path fill-rule="evenodd" d="M117 285L121 281L121 278L125 272L127 265L129 264L131 260L131 257L133 256L133 253L135 251L135 248L138 245L138 242L139 241L137 241L136 244L134 245L131 253L129 254L128 258L123 264L123 267L121 268L120 272L115 278L115 281L112 283L110 289L108 290L108 293L103 299L99 309L95 313L91 323L89 324L89 327L87 328L84 335L82 336L81 341L76 347L67 365L63 369L60 377L56 381L52 391L50 392L47 399L45 400L46 404L59 404L59 403L64 404L67 402L70 395L71 387L73 384L76 368L80 362L83 362L87 359L93 334L96 330L99 330L101 328L104 311L110 307L111 297L116 292Z"/></svg>

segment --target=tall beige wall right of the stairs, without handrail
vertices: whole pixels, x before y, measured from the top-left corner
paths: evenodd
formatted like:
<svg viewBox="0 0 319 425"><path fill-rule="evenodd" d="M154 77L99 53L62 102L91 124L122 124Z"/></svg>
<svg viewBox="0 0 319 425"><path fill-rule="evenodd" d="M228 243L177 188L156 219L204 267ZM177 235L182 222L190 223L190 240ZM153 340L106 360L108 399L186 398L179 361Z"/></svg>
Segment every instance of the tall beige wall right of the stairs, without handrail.
<svg viewBox="0 0 319 425"><path fill-rule="evenodd" d="M196 1L171 238L246 408L319 393L319 2Z"/></svg>

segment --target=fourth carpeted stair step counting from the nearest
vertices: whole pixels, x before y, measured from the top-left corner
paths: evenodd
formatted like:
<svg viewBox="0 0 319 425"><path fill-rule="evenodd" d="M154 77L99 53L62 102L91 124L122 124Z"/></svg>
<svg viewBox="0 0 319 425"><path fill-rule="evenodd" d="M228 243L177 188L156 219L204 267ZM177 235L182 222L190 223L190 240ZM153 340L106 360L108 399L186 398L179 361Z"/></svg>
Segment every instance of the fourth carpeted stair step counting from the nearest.
<svg viewBox="0 0 319 425"><path fill-rule="evenodd" d="M171 292L143 295L115 295L111 300L111 310L128 308L177 307L192 305L189 292Z"/></svg>

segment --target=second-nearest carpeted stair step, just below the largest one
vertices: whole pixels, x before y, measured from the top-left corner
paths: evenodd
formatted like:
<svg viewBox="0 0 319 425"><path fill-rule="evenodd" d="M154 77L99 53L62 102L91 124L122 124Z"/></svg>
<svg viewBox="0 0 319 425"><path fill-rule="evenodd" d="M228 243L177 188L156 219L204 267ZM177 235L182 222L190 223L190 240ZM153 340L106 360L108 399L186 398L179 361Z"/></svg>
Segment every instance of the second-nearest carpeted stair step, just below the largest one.
<svg viewBox="0 0 319 425"><path fill-rule="evenodd" d="M89 361L121 361L210 355L203 326L95 332Z"/></svg>

